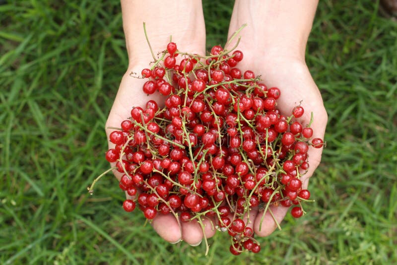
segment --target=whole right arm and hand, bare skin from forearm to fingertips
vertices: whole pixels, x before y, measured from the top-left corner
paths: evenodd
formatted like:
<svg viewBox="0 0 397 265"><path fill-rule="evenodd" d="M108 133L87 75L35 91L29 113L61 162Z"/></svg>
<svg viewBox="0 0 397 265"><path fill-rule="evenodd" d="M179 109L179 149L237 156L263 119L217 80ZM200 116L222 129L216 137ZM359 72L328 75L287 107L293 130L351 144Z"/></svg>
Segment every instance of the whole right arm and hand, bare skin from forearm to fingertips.
<svg viewBox="0 0 397 265"><path fill-rule="evenodd" d="M303 126L309 124L313 113L313 138L324 138L328 115L320 91L305 62L306 43L312 29L318 1L256 1L236 0L229 26L229 37L247 23L239 34L238 49L244 52L240 69L253 70L261 75L267 87L276 86L281 91L277 108L281 114L290 116L292 109L301 105L304 115L296 119ZM233 46L232 42L230 46ZM302 176L303 189L321 161L323 148L310 147L308 172ZM275 219L280 223L288 208L270 206ZM267 211L253 209L249 226L258 236L268 236L276 229L276 222ZM260 229L261 227L261 229Z"/></svg>

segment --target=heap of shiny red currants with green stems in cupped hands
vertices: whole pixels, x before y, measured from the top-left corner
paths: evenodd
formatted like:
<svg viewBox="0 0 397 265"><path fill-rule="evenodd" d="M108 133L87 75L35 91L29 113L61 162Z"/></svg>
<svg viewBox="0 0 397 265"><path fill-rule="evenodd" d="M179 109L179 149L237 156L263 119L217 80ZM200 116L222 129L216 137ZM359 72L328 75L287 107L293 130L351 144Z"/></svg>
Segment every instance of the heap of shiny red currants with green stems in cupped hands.
<svg viewBox="0 0 397 265"><path fill-rule="evenodd" d="M233 51L233 50L231 50ZM230 252L258 253L260 245L247 226L254 207L290 207L304 214L302 189L310 146L321 148L309 125L277 110L280 89L267 88L251 70L236 67L243 53L214 46L209 56L182 53L170 42L150 68L143 91L165 96L165 106L149 100L133 107L120 130L110 134L116 146L106 152L124 173L120 188L134 199L147 219L172 213L178 222L214 216L216 228L231 236ZM181 61L177 63L177 57ZM127 118L127 117L126 117ZM246 221L244 221L246 220ZM205 241L206 242L206 241Z"/></svg>

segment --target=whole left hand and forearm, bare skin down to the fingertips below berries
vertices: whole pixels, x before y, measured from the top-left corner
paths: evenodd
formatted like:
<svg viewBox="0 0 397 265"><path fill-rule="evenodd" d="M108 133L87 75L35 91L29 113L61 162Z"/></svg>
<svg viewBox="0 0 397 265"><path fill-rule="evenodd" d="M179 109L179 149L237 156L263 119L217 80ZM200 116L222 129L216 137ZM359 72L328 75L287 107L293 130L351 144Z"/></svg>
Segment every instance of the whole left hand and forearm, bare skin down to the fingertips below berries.
<svg viewBox="0 0 397 265"><path fill-rule="evenodd" d="M150 8L148 8L150 6ZM146 21L146 29L154 54L165 50L169 36L178 46L178 49L192 54L205 54L205 26L202 14L201 1L170 1L163 2L150 0L149 2L122 0L123 26L126 34L127 50L130 58L130 66L123 76L119 91L110 111L106 128L120 128L122 121L131 117L134 106L145 108L148 100L155 100L158 104L164 102L160 94L147 96L142 91L145 79L130 76L131 72L140 75L143 68L148 68L153 61L149 47L146 43L142 22ZM182 60L178 56L178 60ZM111 129L106 129L109 139ZM109 148L114 144L109 142ZM112 165L114 166L114 165ZM120 180L122 173L114 172ZM127 195L127 199L129 196ZM210 219L204 219L205 236L212 237L215 231L212 229ZM212 220L213 221L213 220ZM202 240L201 226L196 222L177 222L173 214L157 214L152 221L154 230L166 241L177 243L180 240L196 246Z"/></svg>

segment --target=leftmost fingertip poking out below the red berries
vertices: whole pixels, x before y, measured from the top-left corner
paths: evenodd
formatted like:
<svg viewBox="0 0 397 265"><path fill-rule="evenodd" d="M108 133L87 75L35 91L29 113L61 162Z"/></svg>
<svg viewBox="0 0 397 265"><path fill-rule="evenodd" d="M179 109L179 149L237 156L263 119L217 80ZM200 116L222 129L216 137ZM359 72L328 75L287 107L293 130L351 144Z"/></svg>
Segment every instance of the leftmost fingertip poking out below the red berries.
<svg viewBox="0 0 397 265"><path fill-rule="evenodd" d="M165 241L175 244L182 239L181 228L172 214L157 214L152 221L152 226Z"/></svg>

